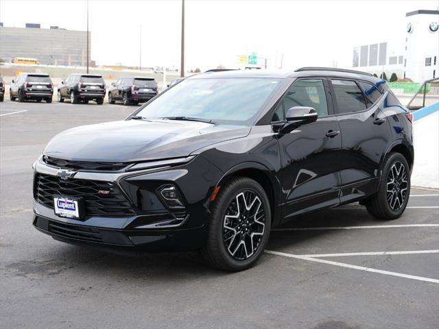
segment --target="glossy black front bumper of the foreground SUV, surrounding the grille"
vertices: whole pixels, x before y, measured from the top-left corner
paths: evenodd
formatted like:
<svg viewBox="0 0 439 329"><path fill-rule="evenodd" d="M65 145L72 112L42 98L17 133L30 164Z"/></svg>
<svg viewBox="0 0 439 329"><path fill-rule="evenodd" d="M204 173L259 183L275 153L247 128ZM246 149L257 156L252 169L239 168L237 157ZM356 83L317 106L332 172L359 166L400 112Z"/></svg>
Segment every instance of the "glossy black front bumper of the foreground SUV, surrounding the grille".
<svg viewBox="0 0 439 329"><path fill-rule="evenodd" d="M187 167L200 166L200 164L202 167L209 166L208 169L213 170L215 175L221 174L203 158L195 163L189 162ZM41 158L34 163L34 169L35 175L58 177L59 169L46 164ZM201 172L206 171L209 172L207 169ZM199 169L182 169L181 167L163 170L143 169L135 172L77 171L73 180L111 182L121 187L122 191L128 191L126 194L128 200L133 200L134 196L139 197L139 195L145 195L147 199L144 199L140 204L135 199L134 202L130 201L136 209L136 213L128 215L91 215L89 213L83 220L59 217L50 204L43 204L34 199L33 223L35 228L41 232L67 243L148 252L200 249L207 236L206 217L208 215L204 197L209 194L208 191L212 191L213 186L206 184L205 191L195 193L192 184L183 184L187 180L193 182L195 178L191 177L192 175L197 175L197 179L200 181L199 173ZM152 195L145 193L146 190L136 189L137 186L145 188L150 184L149 182L157 181L172 182L176 186L187 186L190 193L182 188L182 192L186 193L187 208L178 212L167 210L152 199ZM204 186L204 184L200 184L200 186ZM34 188L36 187L34 186ZM34 191L36 190L34 189ZM147 200L151 202L147 202ZM155 204L156 206L151 208L146 204Z"/></svg>

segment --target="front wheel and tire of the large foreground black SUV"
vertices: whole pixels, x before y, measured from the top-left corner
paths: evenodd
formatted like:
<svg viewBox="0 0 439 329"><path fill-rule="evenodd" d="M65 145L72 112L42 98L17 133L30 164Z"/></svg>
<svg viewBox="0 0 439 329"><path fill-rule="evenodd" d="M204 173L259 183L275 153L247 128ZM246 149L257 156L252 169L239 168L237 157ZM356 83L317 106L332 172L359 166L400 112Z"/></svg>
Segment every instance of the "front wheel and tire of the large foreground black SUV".
<svg viewBox="0 0 439 329"><path fill-rule="evenodd" d="M248 206L246 212L241 210ZM270 202L262 186L250 178L233 178L211 206L204 259L225 271L252 267L268 243L271 222Z"/></svg>

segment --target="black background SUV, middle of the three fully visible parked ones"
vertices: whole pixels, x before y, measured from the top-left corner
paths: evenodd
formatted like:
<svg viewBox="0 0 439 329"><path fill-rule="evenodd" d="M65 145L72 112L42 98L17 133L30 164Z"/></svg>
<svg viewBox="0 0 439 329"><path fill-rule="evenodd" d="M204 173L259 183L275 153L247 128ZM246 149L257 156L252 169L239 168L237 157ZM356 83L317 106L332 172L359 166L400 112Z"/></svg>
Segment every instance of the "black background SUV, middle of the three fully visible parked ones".
<svg viewBox="0 0 439 329"><path fill-rule="evenodd" d="M99 105L104 103L105 82L101 75L71 74L58 86L58 102L69 99L72 104L84 101L96 101Z"/></svg>

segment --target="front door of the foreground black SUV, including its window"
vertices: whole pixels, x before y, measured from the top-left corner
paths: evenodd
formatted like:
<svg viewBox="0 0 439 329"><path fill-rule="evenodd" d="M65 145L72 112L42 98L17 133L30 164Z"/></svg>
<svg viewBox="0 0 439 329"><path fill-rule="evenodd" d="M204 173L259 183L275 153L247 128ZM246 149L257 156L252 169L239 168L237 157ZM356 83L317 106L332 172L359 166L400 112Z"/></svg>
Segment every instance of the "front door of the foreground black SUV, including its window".
<svg viewBox="0 0 439 329"><path fill-rule="evenodd" d="M285 111L309 106L318 113L316 122L278 135L284 221L339 204L342 138L330 97L327 80L312 78L296 80L283 98Z"/></svg>

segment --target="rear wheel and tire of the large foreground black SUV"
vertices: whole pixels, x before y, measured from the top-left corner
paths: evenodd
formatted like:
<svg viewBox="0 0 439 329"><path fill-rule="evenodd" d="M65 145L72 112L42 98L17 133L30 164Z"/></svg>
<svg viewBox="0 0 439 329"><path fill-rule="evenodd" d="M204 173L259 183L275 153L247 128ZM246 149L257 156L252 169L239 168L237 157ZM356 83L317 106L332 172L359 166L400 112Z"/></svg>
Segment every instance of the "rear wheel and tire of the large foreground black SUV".
<svg viewBox="0 0 439 329"><path fill-rule="evenodd" d="M378 192L364 204L370 215L377 219L399 218L410 196L410 167L405 157L391 152L384 158Z"/></svg>

